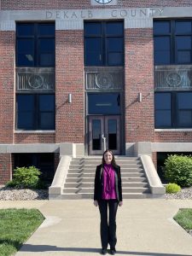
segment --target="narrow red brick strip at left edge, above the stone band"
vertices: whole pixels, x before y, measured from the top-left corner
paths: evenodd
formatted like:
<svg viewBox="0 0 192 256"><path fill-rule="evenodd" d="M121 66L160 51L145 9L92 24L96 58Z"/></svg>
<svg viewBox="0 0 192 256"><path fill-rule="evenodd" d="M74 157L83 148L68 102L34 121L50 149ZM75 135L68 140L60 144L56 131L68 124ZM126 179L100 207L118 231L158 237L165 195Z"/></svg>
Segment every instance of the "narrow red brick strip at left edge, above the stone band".
<svg viewBox="0 0 192 256"><path fill-rule="evenodd" d="M13 143L15 32L0 32L0 143Z"/></svg>

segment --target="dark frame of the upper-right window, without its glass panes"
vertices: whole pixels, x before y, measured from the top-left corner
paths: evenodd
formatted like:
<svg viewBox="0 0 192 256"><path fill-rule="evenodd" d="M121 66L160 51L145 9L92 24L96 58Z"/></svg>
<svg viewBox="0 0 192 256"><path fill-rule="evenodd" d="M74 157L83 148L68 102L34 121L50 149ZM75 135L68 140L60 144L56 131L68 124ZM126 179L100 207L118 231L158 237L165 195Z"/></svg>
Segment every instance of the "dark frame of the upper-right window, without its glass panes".
<svg viewBox="0 0 192 256"><path fill-rule="evenodd" d="M155 33L154 32L154 38L160 38L160 37L169 37L170 38L170 63L168 64L161 64L158 63L158 61L155 61L154 56L154 65L190 65L192 64L192 20L190 19L177 19L177 20L154 20L155 22L169 22L170 23L170 32L162 32L162 33ZM176 32L176 23L177 22L190 22L191 23L191 32ZM177 37L191 37L191 44L190 44L190 61L189 63L186 62L180 62L178 61L178 55L177 55ZM155 45L154 45L155 49ZM183 51L183 50L181 50Z"/></svg>

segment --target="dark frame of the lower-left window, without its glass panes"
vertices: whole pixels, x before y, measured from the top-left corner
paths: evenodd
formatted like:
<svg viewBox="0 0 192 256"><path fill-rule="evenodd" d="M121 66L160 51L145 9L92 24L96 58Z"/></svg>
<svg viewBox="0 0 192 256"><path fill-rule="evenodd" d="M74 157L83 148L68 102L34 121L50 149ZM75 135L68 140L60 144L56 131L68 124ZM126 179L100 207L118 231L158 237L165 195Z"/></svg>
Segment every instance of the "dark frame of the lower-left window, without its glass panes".
<svg viewBox="0 0 192 256"><path fill-rule="evenodd" d="M33 109L32 109L32 113L33 113L33 120L32 120L32 128L18 128L18 119L19 119L19 110L18 110L18 96L33 96ZM49 113L53 113L54 117L53 117L53 128L49 129L49 128L41 128L40 127L40 115L41 115L41 111L40 111L40 96L54 96L54 109L53 111L49 111ZM16 111L15 111L15 130L16 131L53 131L55 130L55 94L53 93L33 93L33 94L29 94L29 93L18 93L16 94Z"/></svg>

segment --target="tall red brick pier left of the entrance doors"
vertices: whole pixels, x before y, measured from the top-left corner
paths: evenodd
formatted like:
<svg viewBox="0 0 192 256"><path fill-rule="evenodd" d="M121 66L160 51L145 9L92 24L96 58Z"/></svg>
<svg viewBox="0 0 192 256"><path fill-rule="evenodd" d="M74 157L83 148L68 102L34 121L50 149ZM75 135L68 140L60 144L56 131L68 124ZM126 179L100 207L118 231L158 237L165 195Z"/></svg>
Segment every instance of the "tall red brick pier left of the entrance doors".
<svg viewBox="0 0 192 256"><path fill-rule="evenodd" d="M55 45L55 143L84 143L83 31L56 31Z"/></svg>

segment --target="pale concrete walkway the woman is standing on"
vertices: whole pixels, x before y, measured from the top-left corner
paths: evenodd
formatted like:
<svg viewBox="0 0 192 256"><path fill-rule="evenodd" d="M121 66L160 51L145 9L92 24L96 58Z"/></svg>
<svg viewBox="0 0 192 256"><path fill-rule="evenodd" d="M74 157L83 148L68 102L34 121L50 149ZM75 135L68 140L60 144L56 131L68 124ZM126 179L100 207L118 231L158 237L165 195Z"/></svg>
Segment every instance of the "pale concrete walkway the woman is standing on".
<svg viewBox="0 0 192 256"><path fill-rule="evenodd" d="M9 207L35 207L46 218L16 256L100 255L92 201L0 201L0 208ZM172 219L183 207L192 208L192 200L125 200L117 214L116 255L192 255L192 236Z"/></svg>

